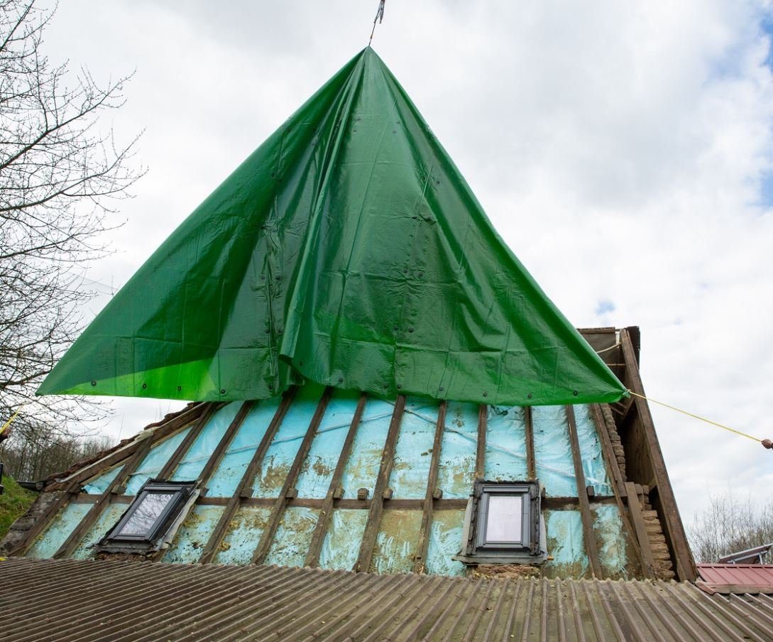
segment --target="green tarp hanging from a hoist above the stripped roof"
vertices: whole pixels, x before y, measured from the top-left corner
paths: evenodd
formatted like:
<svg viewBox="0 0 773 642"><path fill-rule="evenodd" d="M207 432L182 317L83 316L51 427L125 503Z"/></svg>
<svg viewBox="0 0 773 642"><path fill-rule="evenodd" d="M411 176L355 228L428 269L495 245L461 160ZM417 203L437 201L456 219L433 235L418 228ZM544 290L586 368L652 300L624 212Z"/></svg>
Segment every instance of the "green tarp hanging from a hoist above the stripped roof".
<svg viewBox="0 0 773 642"><path fill-rule="evenodd" d="M369 48L155 251L39 394L261 399L305 378L487 404L625 394Z"/></svg>

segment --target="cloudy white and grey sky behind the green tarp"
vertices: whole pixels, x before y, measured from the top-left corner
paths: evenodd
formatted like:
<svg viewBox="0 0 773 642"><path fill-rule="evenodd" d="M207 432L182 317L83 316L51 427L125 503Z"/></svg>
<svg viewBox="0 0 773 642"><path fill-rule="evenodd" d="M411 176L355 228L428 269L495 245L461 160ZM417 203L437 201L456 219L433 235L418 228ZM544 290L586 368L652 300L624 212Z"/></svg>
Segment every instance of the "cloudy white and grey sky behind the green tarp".
<svg viewBox="0 0 773 642"><path fill-rule="evenodd" d="M113 114L148 174L88 319L367 44L377 2L62 2L53 61L136 70ZM768 2L387 0L373 47L576 326L640 326L648 394L773 439ZM102 284L102 285L100 285ZM126 437L179 403L116 399ZM652 407L686 524L769 501L773 452Z"/></svg>

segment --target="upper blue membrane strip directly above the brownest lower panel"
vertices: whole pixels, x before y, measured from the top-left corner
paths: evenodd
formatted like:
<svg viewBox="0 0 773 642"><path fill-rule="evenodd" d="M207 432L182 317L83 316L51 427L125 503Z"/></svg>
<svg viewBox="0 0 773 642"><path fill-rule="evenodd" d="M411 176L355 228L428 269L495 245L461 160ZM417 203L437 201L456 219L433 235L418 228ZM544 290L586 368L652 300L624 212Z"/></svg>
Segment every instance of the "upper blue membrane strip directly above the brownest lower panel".
<svg viewBox="0 0 773 642"><path fill-rule="evenodd" d="M407 398L388 484L395 499L423 500L426 496L437 423L437 401Z"/></svg>

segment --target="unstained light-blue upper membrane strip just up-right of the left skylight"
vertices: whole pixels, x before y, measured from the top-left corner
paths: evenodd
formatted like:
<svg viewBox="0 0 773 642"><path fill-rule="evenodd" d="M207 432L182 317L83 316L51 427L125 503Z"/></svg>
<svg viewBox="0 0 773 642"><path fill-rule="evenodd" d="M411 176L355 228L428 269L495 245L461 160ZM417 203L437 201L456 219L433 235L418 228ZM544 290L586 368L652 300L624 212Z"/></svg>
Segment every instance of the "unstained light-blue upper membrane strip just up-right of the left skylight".
<svg viewBox="0 0 773 642"><path fill-rule="evenodd" d="M254 405L244 418L223 459L209 478L207 497L231 497L244 474L250 459L261 443L271 419L277 412L281 397L274 397Z"/></svg>

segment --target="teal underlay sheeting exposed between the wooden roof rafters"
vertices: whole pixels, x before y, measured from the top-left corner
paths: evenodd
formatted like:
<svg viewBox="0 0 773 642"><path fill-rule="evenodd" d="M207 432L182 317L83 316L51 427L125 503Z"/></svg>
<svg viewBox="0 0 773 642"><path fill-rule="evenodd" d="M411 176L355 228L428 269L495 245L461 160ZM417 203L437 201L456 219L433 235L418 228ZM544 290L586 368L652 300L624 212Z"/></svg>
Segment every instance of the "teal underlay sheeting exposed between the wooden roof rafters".
<svg viewBox="0 0 773 642"><path fill-rule="evenodd" d="M324 388L313 385L298 390L284 419L268 443L261 468L250 482L253 497L275 500L297 459L308 427L318 409ZM373 497L382 463L383 449L392 422L393 401L368 398L356 427L351 452L346 460L341 452L349 434L352 418L360 399L358 393L335 389L319 418L308 455L302 461L295 490L298 500L322 500L329 490L339 462L343 473L340 486L345 500L356 499L360 488ZM279 398L255 402L213 470L206 487L207 498L230 498L240 483L250 460L279 408ZM438 422L439 403L426 398L407 398L394 448L388 487L393 500L421 501L427 495ZM175 470L175 480L195 480L210 454L218 446L229 425L237 416L240 403L220 408L203 426ZM438 457L438 481L444 500L465 500L472 492L475 460L478 450L478 405L450 402L446 408ZM574 406L577 439L580 446L585 483L592 485L598 496L611 497L612 489L598 432L587 405ZM547 497L577 497L574 462L570 447L567 412L563 406L532 408L533 433L538 479ZM488 480L519 481L528 476L526 466L526 418L523 408L489 407L486 415L484 473ZM158 476L165 463L185 439L191 427L165 439L148 452L130 477L126 494L137 493L145 480ZM103 493L119 473L115 466L89 480L85 492ZM31 555L50 557L75 528L90 504L70 504L57 517L52 527L32 547ZM415 547L421 528L421 504L417 508L390 507L388 501L380 521L373 550L371 569L375 572L410 572L414 569ZM123 514L128 504L114 501L87 533L73 557L89 558L92 546ZM199 504L192 509L165 552L165 562L197 562L210 534L216 527L223 504ZM594 504L594 528L598 534L602 564L611 576L625 575L628 548L616 504ZM257 542L267 528L271 508L242 505L230 520L218 548L217 563L246 564L254 554ZM319 563L327 569L352 569L359 553L369 511L363 508L334 507L329 529L322 544ZM267 554L267 563L303 565L311 543L318 507L288 504L278 524L277 533ZM463 575L465 567L452 557L461 548L464 524L463 507L434 511L429 532L425 568L441 575ZM566 575L567 569L587 573L580 513L577 510L544 511L548 555L553 559L548 572ZM552 570L551 570L552 569ZM563 570L562 570L563 569Z"/></svg>

